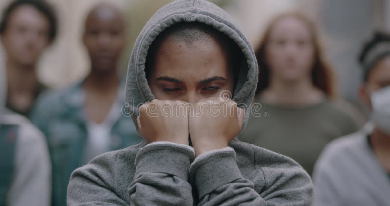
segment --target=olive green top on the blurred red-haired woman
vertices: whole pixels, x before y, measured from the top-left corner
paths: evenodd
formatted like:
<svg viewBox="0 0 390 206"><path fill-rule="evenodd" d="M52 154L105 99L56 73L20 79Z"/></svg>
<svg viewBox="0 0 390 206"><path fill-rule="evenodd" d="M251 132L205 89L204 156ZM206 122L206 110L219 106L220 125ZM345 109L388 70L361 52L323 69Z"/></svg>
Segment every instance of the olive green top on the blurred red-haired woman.
<svg viewBox="0 0 390 206"><path fill-rule="evenodd" d="M254 103L261 108L251 114L239 139L289 156L309 174L328 142L359 128L348 108L330 100L298 108Z"/></svg>

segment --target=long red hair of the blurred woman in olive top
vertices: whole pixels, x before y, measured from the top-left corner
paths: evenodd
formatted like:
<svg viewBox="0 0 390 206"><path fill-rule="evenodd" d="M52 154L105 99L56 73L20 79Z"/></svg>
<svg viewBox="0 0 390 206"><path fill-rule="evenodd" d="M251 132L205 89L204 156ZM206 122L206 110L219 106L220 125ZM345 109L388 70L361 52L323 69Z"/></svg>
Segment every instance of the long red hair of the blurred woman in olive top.
<svg viewBox="0 0 390 206"><path fill-rule="evenodd" d="M316 28L314 23L305 17L303 14L299 12L288 12L283 13L281 15L276 16L270 23L268 24L263 39L260 41L259 47L256 50L256 58L259 65L259 81L257 84L256 95L261 93L265 88L268 87L270 82L270 68L266 62L266 46L269 40L269 36L272 30L272 27L277 21L284 19L286 17L294 17L298 20L302 21L307 28L309 29L312 35L312 42L314 46L314 63L312 66L312 83L315 87L322 90L328 97L335 97L335 79L333 71L330 66L325 62L321 50L321 46L318 40Z"/></svg>

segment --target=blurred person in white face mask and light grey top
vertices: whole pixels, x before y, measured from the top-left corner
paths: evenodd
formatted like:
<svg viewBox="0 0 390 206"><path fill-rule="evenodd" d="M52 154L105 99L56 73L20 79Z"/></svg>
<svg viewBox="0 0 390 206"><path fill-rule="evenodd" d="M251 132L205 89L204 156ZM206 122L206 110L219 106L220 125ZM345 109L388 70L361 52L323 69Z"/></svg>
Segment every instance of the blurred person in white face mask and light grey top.
<svg viewBox="0 0 390 206"><path fill-rule="evenodd" d="M371 121L324 149L313 174L318 206L390 203L390 34L377 32L359 61L359 95Z"/></svg>

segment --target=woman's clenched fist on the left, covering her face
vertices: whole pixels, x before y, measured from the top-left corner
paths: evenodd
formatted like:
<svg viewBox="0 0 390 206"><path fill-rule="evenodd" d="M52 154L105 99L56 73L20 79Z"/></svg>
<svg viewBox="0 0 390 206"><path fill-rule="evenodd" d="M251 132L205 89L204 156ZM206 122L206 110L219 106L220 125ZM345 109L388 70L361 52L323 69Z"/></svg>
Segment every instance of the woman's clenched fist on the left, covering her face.
<svg viewBox="0 0 390 206"><path fill-rule="evenodd" d="M139 108L137 124L140 135L149 143L168 141L188 145L189 103L157 100Z"/></svg>

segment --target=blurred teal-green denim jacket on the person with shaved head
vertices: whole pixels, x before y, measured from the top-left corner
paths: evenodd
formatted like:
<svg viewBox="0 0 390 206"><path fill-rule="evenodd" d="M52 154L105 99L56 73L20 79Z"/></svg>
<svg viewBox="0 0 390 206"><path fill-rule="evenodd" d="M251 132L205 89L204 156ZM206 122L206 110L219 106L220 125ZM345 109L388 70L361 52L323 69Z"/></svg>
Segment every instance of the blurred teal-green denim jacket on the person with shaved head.
<svg viewBox="0 0 390 206"><path fill-rule="evenodd" d="M118 91L116 109L124 103L124 84ZM52 205L66 206L66 190L71 173L83 166L87 143L87 117L83 110L82 82L62 90L43 93L33 109L31 120L45 134L52 161ZM111 128L110 150L126 148L142 138L130 117L117 111Z"/></svg>

